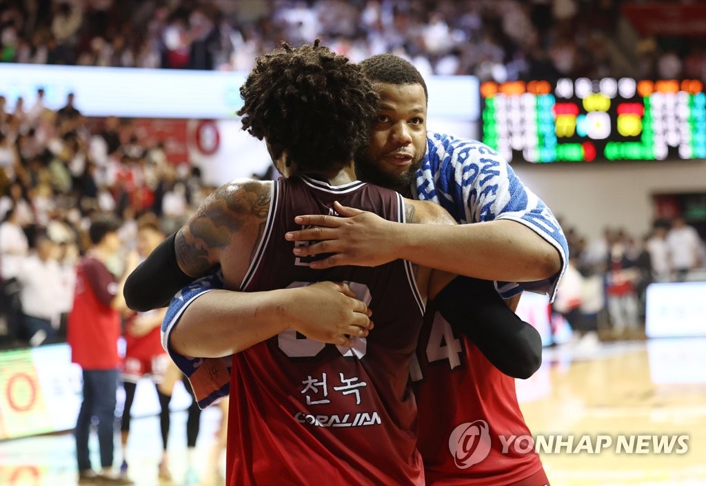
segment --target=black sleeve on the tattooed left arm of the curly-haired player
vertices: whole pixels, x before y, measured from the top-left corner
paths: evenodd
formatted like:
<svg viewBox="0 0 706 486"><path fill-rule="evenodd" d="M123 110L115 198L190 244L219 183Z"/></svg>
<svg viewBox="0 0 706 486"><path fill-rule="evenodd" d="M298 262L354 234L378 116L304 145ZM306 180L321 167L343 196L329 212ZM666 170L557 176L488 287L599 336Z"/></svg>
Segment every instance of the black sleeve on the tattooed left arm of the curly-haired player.
<svg viewBox="0 0 706 486"><path fill-rule="evenodd" d="M125 280L125 302L133 311L167 307L172 297L196 278L186 275L177 263L173 233L150 253Z"/></svg>

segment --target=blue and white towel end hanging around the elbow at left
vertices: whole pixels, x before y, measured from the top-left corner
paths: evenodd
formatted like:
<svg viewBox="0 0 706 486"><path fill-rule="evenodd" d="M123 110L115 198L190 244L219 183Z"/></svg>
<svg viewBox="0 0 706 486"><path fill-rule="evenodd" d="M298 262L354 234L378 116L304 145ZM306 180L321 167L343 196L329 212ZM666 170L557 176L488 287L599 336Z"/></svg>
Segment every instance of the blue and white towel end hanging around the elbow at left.
<svg viewBox="0 0 706 486"><path fill-rule="evenodd" d="M229 395L232 356L210 358L180 355L169 345L169 333L191 302L211 290L222 289L224 286L220 271L194 280L174 296L162 321L162 347L189 379L200 408L206 408L219 398ZM208 323L203 325L208 326Z"/></svg>

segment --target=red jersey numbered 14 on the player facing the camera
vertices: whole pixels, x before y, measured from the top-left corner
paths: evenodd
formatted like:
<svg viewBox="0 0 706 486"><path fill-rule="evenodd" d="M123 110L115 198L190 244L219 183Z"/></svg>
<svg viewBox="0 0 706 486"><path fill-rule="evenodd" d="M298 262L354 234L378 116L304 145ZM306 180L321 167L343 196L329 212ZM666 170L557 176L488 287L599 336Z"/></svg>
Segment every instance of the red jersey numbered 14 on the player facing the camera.
<svg viewBox="0 0 706 486"><path fill-rule="evenodd" d="M512 436L530 437L515 379L457 336L433 302L426 311L411 372L426 485L509 485L537 473L542 462L536 452L521 454L503 444Z"/></svg>

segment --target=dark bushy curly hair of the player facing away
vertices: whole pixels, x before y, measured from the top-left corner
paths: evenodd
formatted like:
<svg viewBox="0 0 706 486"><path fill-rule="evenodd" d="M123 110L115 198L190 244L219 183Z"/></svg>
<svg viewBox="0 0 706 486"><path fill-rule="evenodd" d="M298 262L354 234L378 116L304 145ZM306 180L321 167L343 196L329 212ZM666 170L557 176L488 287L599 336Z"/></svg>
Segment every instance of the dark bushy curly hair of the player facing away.
<svg viewBox="0 0 706 486"><path fill-rule="evenodd" d="M240 88L243 129L277 160L287 150L299 172L340 169L369 143L379 97L359 66L328 47L280 47Z"/></svg>

